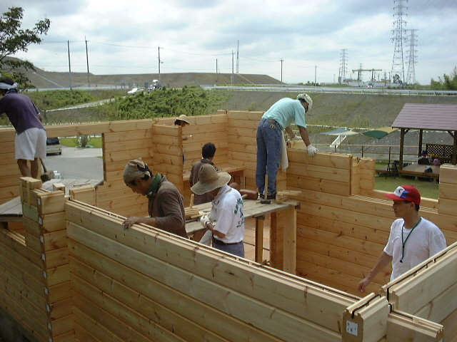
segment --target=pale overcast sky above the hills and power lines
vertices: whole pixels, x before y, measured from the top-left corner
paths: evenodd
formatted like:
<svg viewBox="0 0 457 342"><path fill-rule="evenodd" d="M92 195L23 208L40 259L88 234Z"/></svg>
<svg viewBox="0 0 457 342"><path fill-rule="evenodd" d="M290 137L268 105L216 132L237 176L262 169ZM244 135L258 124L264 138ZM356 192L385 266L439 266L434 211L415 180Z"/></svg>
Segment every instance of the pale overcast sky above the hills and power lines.
<svg viewBox="0 0 457 342"><path fill-rule="evenodd" d="M391 72L398 0L1 0L0 11L24 9L23 28L49 18L44 43L25 58L46 71L96 75L157 73L268 74L286 83L338 79L362 66ZM416 81L429 84L457 65L457 0L403 1L406 29L416 29ZM407 31L409 35L409 31ZM403 42L405 78L410 41ZM317 68L315 68L317 66ZM363 73L368 81L370 73Z"/></svg>

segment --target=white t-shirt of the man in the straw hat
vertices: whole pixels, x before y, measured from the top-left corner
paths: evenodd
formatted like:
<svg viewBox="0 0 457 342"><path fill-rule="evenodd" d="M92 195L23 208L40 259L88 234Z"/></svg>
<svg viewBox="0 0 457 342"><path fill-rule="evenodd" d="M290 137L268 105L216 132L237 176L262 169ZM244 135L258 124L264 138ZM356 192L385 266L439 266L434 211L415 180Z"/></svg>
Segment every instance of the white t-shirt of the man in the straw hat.
<svg viewBox="0 0 457 342"><path fill-rule="evenodd" d="M211 220L216 221L214 229L226 234L224 238L216 237L226 244L241 242L244 239L243 199L238 190L224 185L212 202Z"/></svg>

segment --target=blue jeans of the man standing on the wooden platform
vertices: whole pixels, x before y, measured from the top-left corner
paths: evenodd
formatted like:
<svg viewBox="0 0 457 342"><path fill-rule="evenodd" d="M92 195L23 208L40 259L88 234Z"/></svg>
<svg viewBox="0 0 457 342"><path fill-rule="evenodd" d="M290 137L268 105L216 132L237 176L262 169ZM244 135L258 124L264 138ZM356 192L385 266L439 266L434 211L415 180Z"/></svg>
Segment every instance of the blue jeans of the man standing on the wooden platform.
<svg viewBox="0 0 457 342"><path fill-rule="evenodd" d="M269 121L268 121L269 120ZM261 119L257 127L256 184L263 195L265 175L268 175L267 195L276 194L276 175L281 161L281 126L271 119Z"/></svg>

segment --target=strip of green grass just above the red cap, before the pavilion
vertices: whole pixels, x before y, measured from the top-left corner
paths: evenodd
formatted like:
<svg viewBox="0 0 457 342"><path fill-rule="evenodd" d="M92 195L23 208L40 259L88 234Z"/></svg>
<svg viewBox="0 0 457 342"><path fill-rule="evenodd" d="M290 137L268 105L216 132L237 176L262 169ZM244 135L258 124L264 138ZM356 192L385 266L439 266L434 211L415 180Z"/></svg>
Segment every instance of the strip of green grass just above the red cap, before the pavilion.
<svg viewBox="0 0 457 342"><path fill-rule="evenodd" d="M415 180L412 177L376 177L375 189L393 192L399 185L414 185L419 192L421 197L438 199L438 182L433 179L433 182L428 180Z"/></svg>

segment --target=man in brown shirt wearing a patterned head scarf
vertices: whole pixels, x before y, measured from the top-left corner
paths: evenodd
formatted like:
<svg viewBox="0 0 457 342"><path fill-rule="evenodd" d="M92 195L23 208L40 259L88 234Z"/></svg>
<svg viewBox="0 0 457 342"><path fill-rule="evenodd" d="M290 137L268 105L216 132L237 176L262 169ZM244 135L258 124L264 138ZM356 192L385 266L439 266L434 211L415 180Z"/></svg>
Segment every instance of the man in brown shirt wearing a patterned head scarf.
<svg viewBox="0 0 457 342"><path fill-rule="evenodd" d="M124 182L136 194L148 197L150 216L129 217L124 221L125 228L145 223L187 238L183 197L173 183L159 173L153 175L141 158L127 163Z"/></svg>

